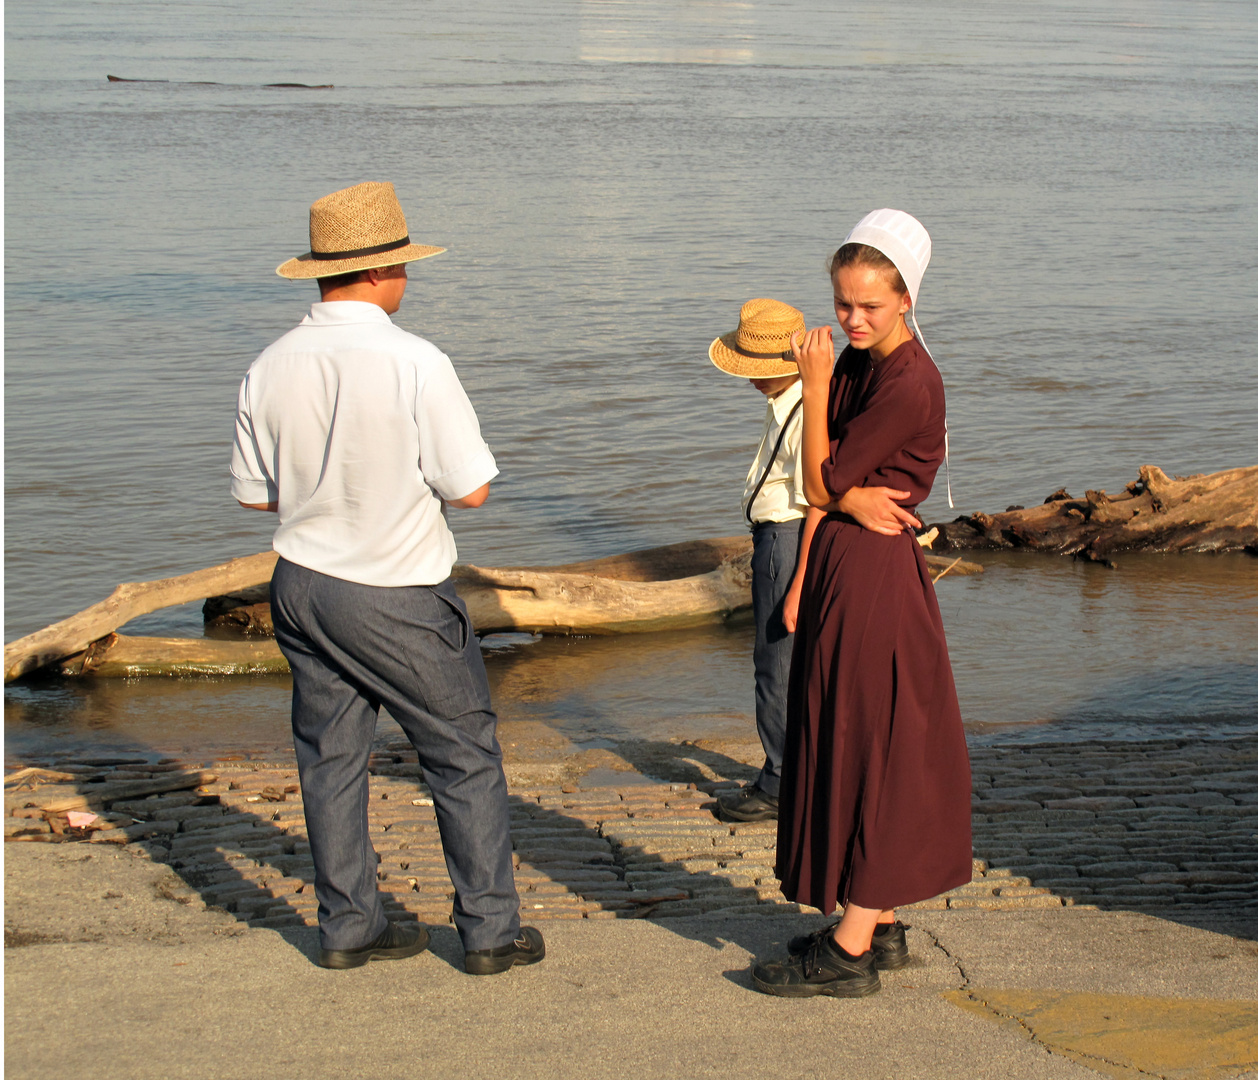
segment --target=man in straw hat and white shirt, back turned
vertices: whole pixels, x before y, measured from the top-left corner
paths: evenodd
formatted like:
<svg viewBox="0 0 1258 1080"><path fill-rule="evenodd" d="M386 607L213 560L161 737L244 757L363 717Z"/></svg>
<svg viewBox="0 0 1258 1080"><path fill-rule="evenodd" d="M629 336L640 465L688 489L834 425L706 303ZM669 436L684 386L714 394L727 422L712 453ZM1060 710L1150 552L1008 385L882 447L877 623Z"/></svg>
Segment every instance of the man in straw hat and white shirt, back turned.
<svg viewBox="0 0 1258 1080"><path fill-rule="evenodd" d="M279 515L276 637L293 671L293 741L320 909L320 964L423 952L390 923L367 832L367 757L384 705L433 793L454 923L473 974L545 956L520 925L497 718L463 602L449 581L445 507L479 507L498 469L449 358L395 327L413 244L391 184L311 206L311 251L281 277L321 303L240 386L231 493Z"/></svg>

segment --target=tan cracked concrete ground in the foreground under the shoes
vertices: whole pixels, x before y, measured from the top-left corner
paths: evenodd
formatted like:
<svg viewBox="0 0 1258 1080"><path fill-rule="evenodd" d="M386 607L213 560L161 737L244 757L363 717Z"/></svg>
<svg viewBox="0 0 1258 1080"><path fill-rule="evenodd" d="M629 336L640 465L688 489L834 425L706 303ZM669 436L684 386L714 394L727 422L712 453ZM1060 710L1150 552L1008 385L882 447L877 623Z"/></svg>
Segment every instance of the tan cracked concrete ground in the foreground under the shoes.
<svg viewBox="0 0 1258 1080"><path fill-rule="evenodd" d="M1211 1062L1245 1045L1258 945L1146 915L910 913L912 962L879 995L786 1001L751 988L751 959L779 956L816 915L551 920L546 961L493 978L465 976L455 935L438 927L419 957L325 972L311 929L248 928L184 903L164 888L167 868L133 849L11 844L5 855L5 1064L24 1080L1219 1080L1255 1067L1239 1051L1230 1071ZM1206 1032L1213 1059L1188 1060L1179 1040L1155 1071L1098 1050L1116 1002L1167 1000L1230 1017ZM1151 1052L1147 1039L1131 1047L1131 1023L1110 1027L1127 1032L1128 1057Z"/></svg>

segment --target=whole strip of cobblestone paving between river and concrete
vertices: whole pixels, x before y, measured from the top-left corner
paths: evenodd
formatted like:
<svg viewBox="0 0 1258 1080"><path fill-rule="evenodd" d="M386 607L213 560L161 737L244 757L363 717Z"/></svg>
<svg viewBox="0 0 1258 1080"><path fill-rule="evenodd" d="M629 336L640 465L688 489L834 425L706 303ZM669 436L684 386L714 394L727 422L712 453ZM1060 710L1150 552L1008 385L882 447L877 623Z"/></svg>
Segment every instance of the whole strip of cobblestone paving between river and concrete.
<svg viewBox="0 0 1258 1080"><path fill-rule="evenodd" d="M1258 738L976 747L972 763L974 880L916 908L1096 905L1258 924ZM6 840L138 845L177 871L187 903L254 927L314 923L291 762L223 761L204 772L138 757L23 766L6 777ZM386 744L371 768L390 917L448 923L452 888L415 753ZM512 791L530 922L800 910L774 876L776 825L713 817L712 796L731 781L633 780ZM67 817L75 802L97 818L75 827Z"/></svg>

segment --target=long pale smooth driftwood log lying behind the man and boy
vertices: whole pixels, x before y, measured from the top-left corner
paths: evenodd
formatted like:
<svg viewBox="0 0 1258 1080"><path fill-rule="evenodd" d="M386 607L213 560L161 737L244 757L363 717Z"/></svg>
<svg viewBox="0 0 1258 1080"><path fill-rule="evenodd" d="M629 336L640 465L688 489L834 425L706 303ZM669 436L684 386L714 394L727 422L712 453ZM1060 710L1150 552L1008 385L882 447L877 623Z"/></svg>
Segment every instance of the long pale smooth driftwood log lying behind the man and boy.
<svg viewBox="0 0 1258 1080"><path fill-rule="evenodd" d="M922 538L923 543L927 538ZM944 573L980 573L927 556ZM161 581L121 585L87 611L5 646L5 681L52 665L64 675L228 675L288 670L270 622L274 552ZM751 603L747 536L689 541L550 567L458 566L454 580L482 634L623 634L694 626ZM114 632L160 607L205 601L208 637Z"/></svg>

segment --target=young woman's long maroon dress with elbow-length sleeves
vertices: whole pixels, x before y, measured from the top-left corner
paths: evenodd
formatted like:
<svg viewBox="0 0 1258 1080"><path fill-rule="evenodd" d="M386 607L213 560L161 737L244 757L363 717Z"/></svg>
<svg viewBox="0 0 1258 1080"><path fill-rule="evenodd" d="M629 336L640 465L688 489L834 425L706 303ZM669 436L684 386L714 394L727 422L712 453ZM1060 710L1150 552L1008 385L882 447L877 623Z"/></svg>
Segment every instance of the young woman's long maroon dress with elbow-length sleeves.
<svg viewBox="0 0 1258 1080"><path fill-rule="evenodd" d="M913 338L845 348L830 381L830 492L911 492L944 461L944 381ZM970 880L970 758L921 546L840 513L816 528L788 698L777 876L830 913L883 910Z"/></svg>

